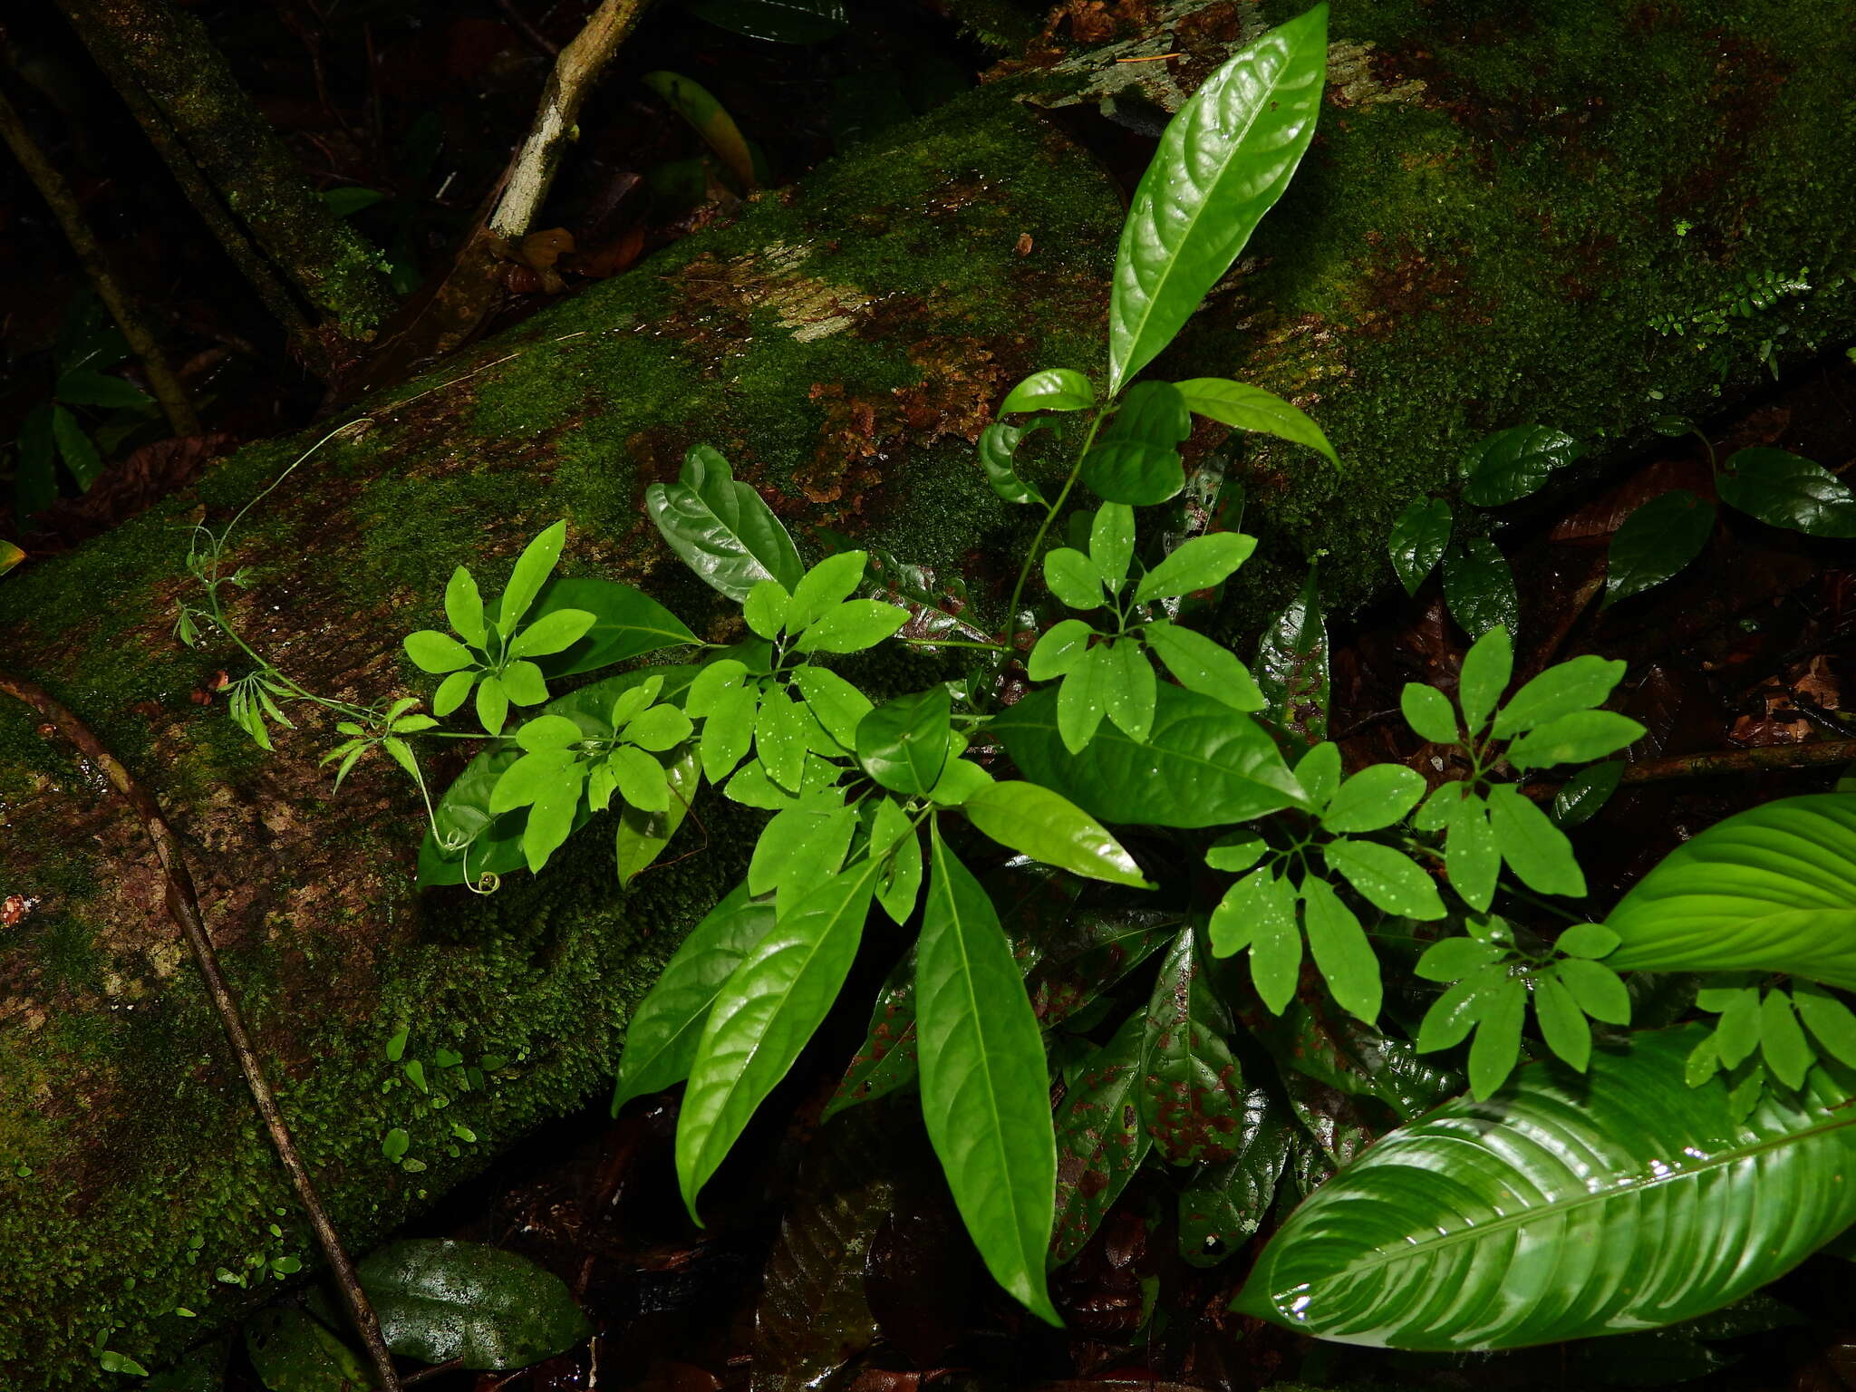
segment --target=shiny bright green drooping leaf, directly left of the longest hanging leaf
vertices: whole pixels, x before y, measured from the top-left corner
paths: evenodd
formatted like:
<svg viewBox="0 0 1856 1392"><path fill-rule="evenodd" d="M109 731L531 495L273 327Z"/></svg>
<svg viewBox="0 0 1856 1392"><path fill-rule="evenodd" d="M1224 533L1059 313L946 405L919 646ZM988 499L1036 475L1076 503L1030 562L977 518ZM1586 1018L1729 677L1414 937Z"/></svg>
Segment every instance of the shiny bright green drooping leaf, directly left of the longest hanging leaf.
<svg viewBox="0 0 1856 1392"><path fill-rule="evenodd" d="M813 889L754 945L716 995L677 1114L677 1182L692 1216L702 1186L844 986L876 872L878 863L865 857Z"/></svg>

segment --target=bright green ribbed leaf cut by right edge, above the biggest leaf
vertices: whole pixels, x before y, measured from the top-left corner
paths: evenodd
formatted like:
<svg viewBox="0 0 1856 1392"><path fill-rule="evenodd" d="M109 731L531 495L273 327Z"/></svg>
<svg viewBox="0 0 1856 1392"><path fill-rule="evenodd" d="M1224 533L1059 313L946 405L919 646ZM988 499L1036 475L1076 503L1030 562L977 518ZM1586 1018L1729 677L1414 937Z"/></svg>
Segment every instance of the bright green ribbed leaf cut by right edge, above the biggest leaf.
<svg viewBox="0 0 1856 1392"><path fill-rule="evenodd" d="M1856 989L1856 794L1752 807L1683 841L1611 909L1620 971L1785 971Z"/></svg>

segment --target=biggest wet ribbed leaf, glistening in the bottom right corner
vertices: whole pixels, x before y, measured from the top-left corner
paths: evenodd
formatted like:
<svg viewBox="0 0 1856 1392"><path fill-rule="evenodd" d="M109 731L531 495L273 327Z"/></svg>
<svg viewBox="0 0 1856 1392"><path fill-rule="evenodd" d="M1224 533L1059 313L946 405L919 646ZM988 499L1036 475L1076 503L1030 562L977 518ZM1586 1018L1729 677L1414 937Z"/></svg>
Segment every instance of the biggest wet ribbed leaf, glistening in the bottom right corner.
<svg viewBox="0 0 1856 1392"><path fill-rule="evenodd" d="M1717 1310L1856 1221L1850 1075L1734 1117L1700 1026L1587 1078L1524 1067L1383 1136L1277 1231L1236 1308L1344 1344L1502 1349Z"/></svg>

